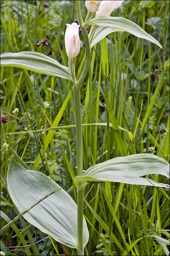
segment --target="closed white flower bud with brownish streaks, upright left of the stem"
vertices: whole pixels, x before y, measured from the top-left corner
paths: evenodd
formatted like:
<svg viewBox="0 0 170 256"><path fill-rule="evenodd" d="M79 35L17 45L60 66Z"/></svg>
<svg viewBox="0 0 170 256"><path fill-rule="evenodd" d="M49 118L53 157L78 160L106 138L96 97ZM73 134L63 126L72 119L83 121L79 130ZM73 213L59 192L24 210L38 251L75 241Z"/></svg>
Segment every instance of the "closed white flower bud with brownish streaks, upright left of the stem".
<svg viewBox="0 0 170 256"><path fill-rule="evenodd" d="M69 58L76 57L80 52L80 38L79 27L77 23L73 22L71 25L66 24L67 29L65 33L66 53Z"/></svg>

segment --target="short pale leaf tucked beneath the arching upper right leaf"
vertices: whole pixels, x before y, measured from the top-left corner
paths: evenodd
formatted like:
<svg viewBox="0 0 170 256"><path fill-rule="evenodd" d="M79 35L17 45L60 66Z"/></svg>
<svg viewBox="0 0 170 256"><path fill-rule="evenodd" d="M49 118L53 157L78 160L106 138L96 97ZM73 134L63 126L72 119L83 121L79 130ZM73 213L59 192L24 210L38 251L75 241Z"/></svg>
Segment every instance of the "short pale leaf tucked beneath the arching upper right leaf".
<svg viewBox="0 0 170 256"><path fill-rule="evenodd" d="M105 38L106 35L116 31L120 31L120 29L97 26L94 33L89 33L90 48Z"/></svg>

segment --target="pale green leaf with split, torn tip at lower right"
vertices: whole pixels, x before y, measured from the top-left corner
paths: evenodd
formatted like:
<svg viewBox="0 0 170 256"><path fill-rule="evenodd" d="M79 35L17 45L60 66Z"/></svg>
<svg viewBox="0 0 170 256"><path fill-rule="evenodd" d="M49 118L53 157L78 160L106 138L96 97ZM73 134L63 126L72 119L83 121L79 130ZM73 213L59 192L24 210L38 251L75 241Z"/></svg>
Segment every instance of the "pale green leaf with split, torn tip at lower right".
<svg viewBox="0 0 170 256"><path fill-rule="evenodd" d="M116 157L90 167L83 176L76 176L75 182L110 181L136 185L168 187L152 179L141 176L162 174L169 178L169 163L163 158L151 154L137 154Z"/></svg>

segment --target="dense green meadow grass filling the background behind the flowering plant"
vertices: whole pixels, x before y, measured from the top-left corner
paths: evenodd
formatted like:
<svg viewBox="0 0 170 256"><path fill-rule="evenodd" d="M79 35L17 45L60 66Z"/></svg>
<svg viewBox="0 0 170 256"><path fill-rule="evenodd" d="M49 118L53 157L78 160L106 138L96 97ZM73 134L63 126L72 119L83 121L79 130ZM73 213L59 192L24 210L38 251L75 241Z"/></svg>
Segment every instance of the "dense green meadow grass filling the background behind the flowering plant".
<svg viewBox="0 0 170 256"><path fill-rule="evenodd" d="M43 7L45 2L49 3L48 8ZM37 51L68 66L64 33L66 23L77 22L75 1L1 1L0 5L1 53ZM85 18L87 11L83 6L84 3ZM125 1L112 15L135 22L157 39L163 49L126 32L109 34L101 46L98 43L92 48L91 65L81 89L82 122L107 126L83 127L83 169L120 155L138 153L152 153L169 162L169 1ZM53 53L49 46L35 47L46 36ZM74 61L78 76L85 50L82 35L80 39L82 47ZM108 60L104 59L103 51ZM103 73L102 59L108 63L108 76ZM1 67L0 76L1 115L8 117L4 130L1 123L3 227L18 214L6 185L12 156L23 167L43 172L60 186L65 185L65 190L77 201L73 183L76 133L74 127L22 133L30 128L75 124L70 82L11 67ZM48 102L50 108L44 109L43 102ZM18 112L13 113L16 108ZM122 130L116 132L108 123L129 130L132 136ZM10 132L21 133L6 134ZM4 142L9 145L7 152L3 151ZM150 176L168 183L166 177ZM109 255L169 254L169 245L160 240L169 241L169 191L101 183L87 185L85 196L84 215L89 229L85 255L108 255L95 253L102 248ZM108 240L101 233L107 233ZM20 222L2 233L1 251L5 255L76 255L74 249L47 236L21 217ZM36 243L41 239L44 240ZM103 245L97 247L100 239Z"/></svg>

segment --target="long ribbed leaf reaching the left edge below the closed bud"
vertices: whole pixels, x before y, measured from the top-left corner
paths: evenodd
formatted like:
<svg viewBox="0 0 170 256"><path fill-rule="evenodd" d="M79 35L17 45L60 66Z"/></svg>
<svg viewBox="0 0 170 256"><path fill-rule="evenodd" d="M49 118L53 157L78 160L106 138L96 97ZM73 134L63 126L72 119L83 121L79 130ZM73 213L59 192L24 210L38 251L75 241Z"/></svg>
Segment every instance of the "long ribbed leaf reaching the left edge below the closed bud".
<svg viewBox="0 0 170 256"><path fill-rule="evenodd" d="M1 66L23 68L45 75L60 76L72 81L68 67L41 53L2 53Z"/></svg>

